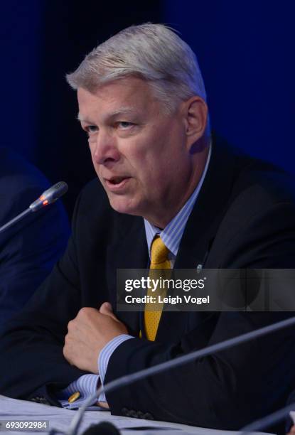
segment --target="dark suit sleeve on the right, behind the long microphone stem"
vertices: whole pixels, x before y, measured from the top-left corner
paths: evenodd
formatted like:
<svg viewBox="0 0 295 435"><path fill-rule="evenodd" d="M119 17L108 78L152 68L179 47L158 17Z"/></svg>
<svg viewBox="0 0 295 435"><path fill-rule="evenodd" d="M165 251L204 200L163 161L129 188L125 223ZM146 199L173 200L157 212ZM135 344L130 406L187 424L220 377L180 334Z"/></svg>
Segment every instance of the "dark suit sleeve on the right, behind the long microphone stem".
<svg viewBox="0 0 295 435"><path fill-rule="evenodd" d="M222 267L288 268L295 264L295 210L276 204L254 215L224 240ZM163 363L205 345L261 328L292 313L208 313L175 345L128 340L114 350L105 383ZM210 331L210 332L209 332ZM295 383L294 331L290 328L195 360L106 394L113 414L236 430L284 406Z"/></svg>

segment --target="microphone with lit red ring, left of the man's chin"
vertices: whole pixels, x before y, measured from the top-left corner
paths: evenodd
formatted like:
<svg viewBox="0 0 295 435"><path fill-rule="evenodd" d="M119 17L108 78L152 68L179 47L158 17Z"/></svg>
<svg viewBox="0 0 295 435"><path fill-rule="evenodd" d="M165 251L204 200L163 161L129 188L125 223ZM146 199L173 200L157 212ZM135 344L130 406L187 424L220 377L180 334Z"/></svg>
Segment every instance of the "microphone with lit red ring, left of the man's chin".
<svg viewBox="0 0 295 435"><path fill-rule="evenodd" d="M49 189L45 190L45 192L42 193L39 198L31 203L31 205L24 210L22 213L16 216L16 218L13 218L9 220L5 225L2 225L0 227L0 233L7 230L7 228L11 227L12 225L16 224L19 220L24 218L26 215L29 215L30 213L35 213L38 210L41 210L41 208L45 207L46 205L55 203L60 196L64 195L66 192L68 192L68 184L65 183L65 181L59 181L54 186L51 186Z"/></svg>

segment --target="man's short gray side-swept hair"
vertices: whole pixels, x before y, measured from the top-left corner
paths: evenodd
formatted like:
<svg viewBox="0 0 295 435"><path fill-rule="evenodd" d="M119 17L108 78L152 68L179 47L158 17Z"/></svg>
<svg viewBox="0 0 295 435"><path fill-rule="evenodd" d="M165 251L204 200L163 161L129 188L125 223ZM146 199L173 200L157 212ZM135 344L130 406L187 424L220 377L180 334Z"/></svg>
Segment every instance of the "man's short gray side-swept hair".
<svg viewBox="0 0 295 435"><path fill-rule="evenodd" d="M67 80L73 89L94 92L104 83L137 76L149 82L167 112L198 95L206 100L203 77L191 47L171 28L130 26L97 45Z"/></svg>

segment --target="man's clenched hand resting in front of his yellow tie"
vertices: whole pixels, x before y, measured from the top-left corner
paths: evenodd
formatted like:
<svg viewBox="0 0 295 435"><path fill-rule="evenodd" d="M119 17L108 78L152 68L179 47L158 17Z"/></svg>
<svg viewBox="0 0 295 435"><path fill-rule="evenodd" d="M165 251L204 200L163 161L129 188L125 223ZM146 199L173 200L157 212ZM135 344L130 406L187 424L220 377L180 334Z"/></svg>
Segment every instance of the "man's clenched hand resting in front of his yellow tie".
<svg viewBox="0 0 295 435"><path fill-rule="evenodd" d="M91 373L98 373L97 359L104 345L117 335L128 333L126 326L112 312L112 306L104 302L100 311L81 308L68 323L63 356L71 365Z"/></svg>

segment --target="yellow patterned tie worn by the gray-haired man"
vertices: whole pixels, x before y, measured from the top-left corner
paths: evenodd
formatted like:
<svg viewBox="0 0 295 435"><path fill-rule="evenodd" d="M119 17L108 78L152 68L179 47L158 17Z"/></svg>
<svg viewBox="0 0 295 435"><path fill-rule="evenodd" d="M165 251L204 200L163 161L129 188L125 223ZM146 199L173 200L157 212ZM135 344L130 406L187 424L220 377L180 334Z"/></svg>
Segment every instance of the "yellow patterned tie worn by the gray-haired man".
<svg viewBox="0 0 295 435"><path fill-rule="evenodd" d="M161 237L156 236L151 244L150 269L171 269L171 264L168 260L168 253L169 249L163 244ZM150 271L149 276L151 276L151 274L152 272ZM163 289L163 292L166 294L165 289ZM154 293L151 289L148 289L147 295L155 296ZM157 294L159 294L159 291ZM148 340L154 341L156 338L156 331L158 330L162 311L163 304L146 304L144 308L144 326L146 329L146 338Z"/></svg>

